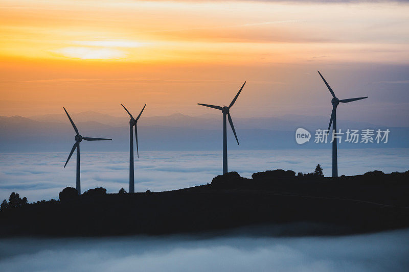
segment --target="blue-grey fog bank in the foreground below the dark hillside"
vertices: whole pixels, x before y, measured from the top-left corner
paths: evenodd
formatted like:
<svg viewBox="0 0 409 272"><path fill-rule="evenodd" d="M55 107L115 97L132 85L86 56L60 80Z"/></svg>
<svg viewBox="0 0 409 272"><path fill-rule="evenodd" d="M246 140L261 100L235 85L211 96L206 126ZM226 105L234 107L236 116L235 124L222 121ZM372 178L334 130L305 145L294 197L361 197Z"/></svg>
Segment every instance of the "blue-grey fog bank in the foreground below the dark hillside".
<svg viewBox="0 0 409 272"><path fill-rule="evenodd" d="M409 269L409 229L340 237L272 237L248 233L251 232L0 239L0 270L320 272Z"/></svg>

